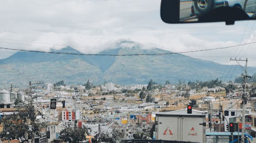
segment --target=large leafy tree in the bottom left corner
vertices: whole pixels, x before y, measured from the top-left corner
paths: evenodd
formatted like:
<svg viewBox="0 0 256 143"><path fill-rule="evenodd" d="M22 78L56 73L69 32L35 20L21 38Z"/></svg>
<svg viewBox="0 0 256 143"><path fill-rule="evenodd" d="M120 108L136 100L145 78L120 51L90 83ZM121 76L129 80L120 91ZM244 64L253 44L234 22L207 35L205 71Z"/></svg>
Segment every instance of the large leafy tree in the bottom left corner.
<svg viewBox="0 0 256 143"><path fill-rule="evenodd" d="M36 114L32 105L3 117L0 120L1 124L4 125L3 131L0 133L1 138L25 139L25 133L28 133L29 139L34 138L34 134L39 135L40 129L45 127L44 123L35 123L35 119Z"/></svg>

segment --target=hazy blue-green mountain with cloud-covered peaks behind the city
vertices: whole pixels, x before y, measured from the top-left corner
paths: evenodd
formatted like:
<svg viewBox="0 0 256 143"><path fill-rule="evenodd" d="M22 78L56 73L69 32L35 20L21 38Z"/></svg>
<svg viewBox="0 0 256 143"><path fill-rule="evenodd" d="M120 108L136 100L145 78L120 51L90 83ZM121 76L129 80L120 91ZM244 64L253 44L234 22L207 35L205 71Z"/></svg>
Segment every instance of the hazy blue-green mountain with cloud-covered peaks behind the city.
<svg viewBox="0 0 256 143"><path fill-rule="evenodd" d="M119 41L99 54L169 53L159 48L145 49L140 43ZM117 84L145 84L150 79L158 83L180 81L234 80L243 73L239 66L226 66L191 58L183 54L166 55L72 55L78 50L68 46L56 53L18 51L0 60L0 87L10 83L28 85L31 78L55 83L83 84L89 79L94 84L104 81ZM226 69L232 70L225 72ZM250 67L248 71L255 71Z"/></svg>

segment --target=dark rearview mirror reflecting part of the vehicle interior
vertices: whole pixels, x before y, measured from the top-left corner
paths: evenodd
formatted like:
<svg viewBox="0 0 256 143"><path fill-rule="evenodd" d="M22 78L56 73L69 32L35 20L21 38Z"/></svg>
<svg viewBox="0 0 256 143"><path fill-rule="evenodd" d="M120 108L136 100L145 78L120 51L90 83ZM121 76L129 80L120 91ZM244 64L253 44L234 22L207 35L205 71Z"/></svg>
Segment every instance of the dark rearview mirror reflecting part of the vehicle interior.
<svg viewBox="0 0 256 143"><path fill-rule="evenodd" d="M255 19L256 0L162 0L166 23L220 22Z"/></svg>

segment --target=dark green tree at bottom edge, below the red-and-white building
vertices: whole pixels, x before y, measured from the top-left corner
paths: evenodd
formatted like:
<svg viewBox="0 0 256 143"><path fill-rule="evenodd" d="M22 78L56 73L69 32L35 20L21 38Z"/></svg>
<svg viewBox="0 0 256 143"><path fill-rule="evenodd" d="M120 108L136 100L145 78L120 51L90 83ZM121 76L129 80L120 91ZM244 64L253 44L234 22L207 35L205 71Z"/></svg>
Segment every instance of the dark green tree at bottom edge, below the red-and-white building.
<svg viewBox="0 0 256 143"><path fill-rule="evenodd" d="M60 132L59 138L63 139L63 141L79 142L86 138L86 133L88 134L88 130L86 127L68 127Z"/></svg>

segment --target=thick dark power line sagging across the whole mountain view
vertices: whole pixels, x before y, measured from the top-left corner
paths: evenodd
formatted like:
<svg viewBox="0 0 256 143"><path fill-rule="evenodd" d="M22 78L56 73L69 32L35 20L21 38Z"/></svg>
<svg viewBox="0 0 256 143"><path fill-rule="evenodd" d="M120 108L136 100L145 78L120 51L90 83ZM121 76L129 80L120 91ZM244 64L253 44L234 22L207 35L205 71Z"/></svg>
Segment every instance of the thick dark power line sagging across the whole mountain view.
<svg viewBox="0 0 256 143"><path fill-rule="evenodd" d="M135 54L86 54L86 53L68 53L68 52L52 52L52 51L37 51L37 50L25 50L25 49L15 49L15 48L6 48L0 47L0 49L6 50L16 50L16 51L28 51L28 52L41 52L41 53L55 53L55 54L72 54L72 55L100 55L100 56L137 56L137 55L168 55L168 54L179 54L179 53L190 53L190 52L200 52L200 51L210 51L210 50L218 50L218 49L228 49L228 48L238 48L239 46L253 44L256 42L249 42L234 46L227 46L221 48L209 48L203 50L192 50L192 51L183 51L183 52L167 52L167 53L135 53Z"/></svg>

